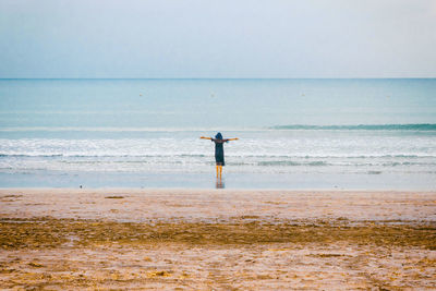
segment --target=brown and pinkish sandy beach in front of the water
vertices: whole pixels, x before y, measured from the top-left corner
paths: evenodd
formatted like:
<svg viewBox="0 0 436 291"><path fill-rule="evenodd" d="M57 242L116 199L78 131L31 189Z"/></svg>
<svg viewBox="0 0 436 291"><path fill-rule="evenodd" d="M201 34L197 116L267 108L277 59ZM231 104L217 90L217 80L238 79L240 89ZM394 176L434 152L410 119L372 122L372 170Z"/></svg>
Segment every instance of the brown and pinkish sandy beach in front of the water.
<svg viewBox="0 0 436 291"><path fill-rule="evenodd" d="M0 190L2 289L436 288L436 193Z"/></svg>

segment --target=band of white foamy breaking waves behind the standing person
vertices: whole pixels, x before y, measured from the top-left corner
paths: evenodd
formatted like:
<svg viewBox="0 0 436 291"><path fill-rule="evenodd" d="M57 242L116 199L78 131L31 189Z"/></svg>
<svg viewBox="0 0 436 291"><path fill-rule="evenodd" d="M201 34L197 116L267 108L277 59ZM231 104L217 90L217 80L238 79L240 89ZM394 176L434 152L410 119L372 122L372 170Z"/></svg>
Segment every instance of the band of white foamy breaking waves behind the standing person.
<svg viewBox="0 0 436 291"><path fill-rule="evenodd" d="M144 138L2 138L0 170L206 172L214 146L198 138L167 133ZM243 132L240 132L241 134ZM244 132L225 145L231 172L434 172L434 137L402 134L350 135ZM159 137L159 135L161 135ZM182 134L181 136L184 136Z"/></svg>

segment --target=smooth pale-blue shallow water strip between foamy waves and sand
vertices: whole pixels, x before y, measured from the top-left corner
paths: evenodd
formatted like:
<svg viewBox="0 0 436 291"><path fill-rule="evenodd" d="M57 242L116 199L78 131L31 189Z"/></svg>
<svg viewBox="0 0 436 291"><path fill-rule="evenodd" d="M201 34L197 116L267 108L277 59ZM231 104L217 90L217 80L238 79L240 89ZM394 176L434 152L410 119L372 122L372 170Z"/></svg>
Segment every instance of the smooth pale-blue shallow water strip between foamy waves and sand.
<svg viewBox="0 0 436 291"><path fill-rule="evenodd" d="M289 169L288 169L289 170ZM237 172L235 172L237 171ZM36 171L28 173L0 173L3 187L57 189L229 189L229 190L374 190L374 191L436 191L434 173L392 172L238 172L238 168L223 170L223 179L216 181L215 168L204 172L118 172L118 171Z"/></svg>

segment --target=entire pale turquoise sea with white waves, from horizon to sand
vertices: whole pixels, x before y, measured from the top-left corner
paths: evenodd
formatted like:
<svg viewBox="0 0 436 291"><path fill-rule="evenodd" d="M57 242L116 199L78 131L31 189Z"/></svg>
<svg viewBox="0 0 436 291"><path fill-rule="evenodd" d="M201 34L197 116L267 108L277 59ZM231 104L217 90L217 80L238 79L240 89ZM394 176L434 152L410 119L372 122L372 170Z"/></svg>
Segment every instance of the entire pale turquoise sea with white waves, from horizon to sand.
<svg viewBox="0 0 436 291"><path fill-rule="evenodd" d="M436 190L436 80L0 80L0 186Z"/></svg>

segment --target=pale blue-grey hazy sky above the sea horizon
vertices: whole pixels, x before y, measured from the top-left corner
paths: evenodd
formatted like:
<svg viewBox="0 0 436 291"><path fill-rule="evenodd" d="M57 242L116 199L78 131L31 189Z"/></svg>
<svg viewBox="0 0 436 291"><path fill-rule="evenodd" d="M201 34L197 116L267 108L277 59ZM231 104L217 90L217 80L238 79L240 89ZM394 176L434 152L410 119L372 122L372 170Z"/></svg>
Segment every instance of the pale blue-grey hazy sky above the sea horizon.
<svg viewBox="0 0 436 291"><path fill-rule="evenodd" d="M1 78L436 77L436 0L0 0Z"/></svg>

